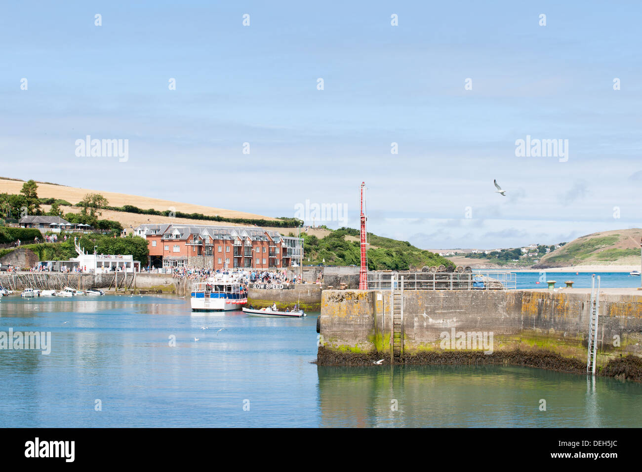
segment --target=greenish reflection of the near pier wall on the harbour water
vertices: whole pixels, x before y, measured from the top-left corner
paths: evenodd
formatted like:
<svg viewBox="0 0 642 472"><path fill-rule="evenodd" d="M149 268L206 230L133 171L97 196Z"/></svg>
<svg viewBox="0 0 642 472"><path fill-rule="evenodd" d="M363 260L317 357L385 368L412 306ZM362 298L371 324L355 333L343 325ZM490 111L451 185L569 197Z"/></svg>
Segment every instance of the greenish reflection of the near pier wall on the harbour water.
<svg viewBox="0 0 642 472"><path fill-rule="evenodd" d="M318 376L321 426L642 424L630 414L642 407L641 386L611 379L589 380L587 393L583 376L525 367L319 366Z"/></svg>

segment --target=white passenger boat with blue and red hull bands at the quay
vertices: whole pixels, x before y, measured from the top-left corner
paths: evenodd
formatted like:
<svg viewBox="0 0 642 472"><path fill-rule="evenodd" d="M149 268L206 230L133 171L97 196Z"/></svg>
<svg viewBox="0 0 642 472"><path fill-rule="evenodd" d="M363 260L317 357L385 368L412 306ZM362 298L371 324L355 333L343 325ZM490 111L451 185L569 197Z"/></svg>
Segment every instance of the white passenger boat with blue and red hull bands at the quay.
<svg viewBox="0 0 642 472"><path fill-rule="evenodd" d="M243 274L220 272L207 281L192 284L192 311L239 310L247 303L247 288Z"/></svg>

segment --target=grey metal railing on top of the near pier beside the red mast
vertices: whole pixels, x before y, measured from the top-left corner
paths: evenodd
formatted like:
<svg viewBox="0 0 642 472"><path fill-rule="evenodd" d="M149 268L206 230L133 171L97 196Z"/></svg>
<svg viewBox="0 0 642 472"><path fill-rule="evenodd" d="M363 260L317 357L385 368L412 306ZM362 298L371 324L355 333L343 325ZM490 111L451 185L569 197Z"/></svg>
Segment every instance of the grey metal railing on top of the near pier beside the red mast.
<svg viewBox="0 0 642 472"><path fill-rule="evenodd" d="M516 290L514 272L368 272L368 290Z"/></svg>

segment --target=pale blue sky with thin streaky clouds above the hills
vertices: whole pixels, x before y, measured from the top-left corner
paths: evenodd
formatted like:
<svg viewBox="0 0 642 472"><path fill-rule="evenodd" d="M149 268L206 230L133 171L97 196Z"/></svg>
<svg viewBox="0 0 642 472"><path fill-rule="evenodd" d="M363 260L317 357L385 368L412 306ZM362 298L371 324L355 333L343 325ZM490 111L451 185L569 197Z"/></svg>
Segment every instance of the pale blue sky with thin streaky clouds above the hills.
<svg viewBox="0 0 642 472"><path fill-rule="evenodd" d="M365 182L368 230L424 249L641 227L641 14L597 1L5 2L0 175L267 216L341 205L345 218L304 214L333 228L358 227ZM83 155L87 135L127 140L126 159ZM568 143L566 156L519 155L527 136Z"/></svg>

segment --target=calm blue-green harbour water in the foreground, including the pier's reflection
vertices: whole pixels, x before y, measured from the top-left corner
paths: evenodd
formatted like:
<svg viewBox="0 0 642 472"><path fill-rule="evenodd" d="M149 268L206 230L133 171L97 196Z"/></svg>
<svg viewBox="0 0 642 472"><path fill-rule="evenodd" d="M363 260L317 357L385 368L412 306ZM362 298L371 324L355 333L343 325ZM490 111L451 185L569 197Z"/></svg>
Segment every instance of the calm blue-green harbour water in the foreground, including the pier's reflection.
<svg viewBox="0 0 642 472"><path fill-rule="evenodd" d="M0 331L51 331L51 353L0 350L0 426L642 426L638 383L317 367L316 315L191 313L189 299L155 295L4 297Z"/></svg>

